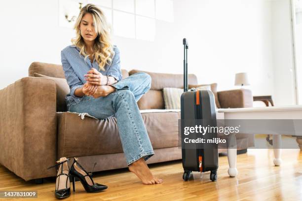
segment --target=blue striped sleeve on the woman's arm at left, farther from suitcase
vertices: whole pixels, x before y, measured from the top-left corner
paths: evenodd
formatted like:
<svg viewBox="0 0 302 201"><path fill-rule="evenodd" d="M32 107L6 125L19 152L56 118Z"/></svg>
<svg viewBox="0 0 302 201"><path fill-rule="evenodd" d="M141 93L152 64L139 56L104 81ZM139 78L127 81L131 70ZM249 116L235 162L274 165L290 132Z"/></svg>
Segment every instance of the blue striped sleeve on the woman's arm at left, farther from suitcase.
<svg viewBox="0 0 302 201"><path fill-rule="evenodd" d="M75 95L75 91L76 91L77 88L81 88L83 86L83 83L77 77L75 71L73 70L73 68L71 67L69 62L67 61L67 59L66 59L63 52L61 52L61 62L62 62L63 70L64 70L64 73L65 73L65 78L66 78L67 83L68 83L69 88L70 88L70 96L72 96L73 99L77 103L79 103L81 101L82 97L77 97Z"/></svg>

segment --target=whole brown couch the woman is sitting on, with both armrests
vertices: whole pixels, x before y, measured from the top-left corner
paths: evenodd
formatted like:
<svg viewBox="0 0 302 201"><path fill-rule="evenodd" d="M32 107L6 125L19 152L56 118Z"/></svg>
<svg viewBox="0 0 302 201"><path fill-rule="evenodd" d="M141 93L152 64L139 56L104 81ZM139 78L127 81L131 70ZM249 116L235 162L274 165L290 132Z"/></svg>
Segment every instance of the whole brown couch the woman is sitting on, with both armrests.
<svg viewBox="0 0 302 201"><path fill-rule="evenodd" d="M63 156L79 157L87 171L94 162L97 162L95 171L127 167L115 117L81 119L76 113L66 112L66 94L57 90L53 79L33 77L35 72L65 78L61 65L35 62L29 67L29 77L0 90L0 163L26 181L55 176L54 168L46 168ZM138 70L122 72L125 78ZM151 90L138 105L141 110L164 109L162 89L182 88L183 75L148 73L152 78ZM197 85L195 75L189 75L189 84ZM252 106L249 90L216 92L216 84L211 88L216 103L223 108ZM57 108L65 111L58 113ZM148 163L181 159L180 112L147 112L142 117L155 152ZM238 134L237 140L246 137ZM250 138L249 146L253 143Z"/></svg>

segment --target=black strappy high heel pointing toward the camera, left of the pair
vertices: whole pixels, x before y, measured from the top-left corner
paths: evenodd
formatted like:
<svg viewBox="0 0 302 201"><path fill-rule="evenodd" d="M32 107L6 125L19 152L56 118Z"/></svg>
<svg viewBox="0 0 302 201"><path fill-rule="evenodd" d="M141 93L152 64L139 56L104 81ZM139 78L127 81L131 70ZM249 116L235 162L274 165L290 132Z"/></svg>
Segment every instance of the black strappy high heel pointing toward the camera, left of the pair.
<svg viewBox="0 0 302 201"><path fill-rule="evenodd" d="M57 163L56 165L47 168L47 169L50 169L52 167L56 167L57 171L58 171L58 174L56 177L56 188L55 188L55 197L57 199L67 198L71 194L70 180L69 180L70 169L68 167L68 164L66 163L69 160L70 159L67 159L65 157L60 158L60 160L56 162ZM58 168L58 166L59 166L59 168Z"/></svg>

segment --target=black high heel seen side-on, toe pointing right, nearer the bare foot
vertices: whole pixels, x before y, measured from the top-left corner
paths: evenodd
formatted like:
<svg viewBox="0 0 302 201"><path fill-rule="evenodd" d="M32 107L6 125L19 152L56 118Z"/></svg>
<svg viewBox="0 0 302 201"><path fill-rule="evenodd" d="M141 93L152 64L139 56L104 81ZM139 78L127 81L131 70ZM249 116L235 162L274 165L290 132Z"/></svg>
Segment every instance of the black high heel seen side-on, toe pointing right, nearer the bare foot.
<svg viewBox="0 0 302 201"><path fill-rule="evenodd" d="M96 163L94 164L94 166ZM94 168L94 167L93 167ZM92 169L93 172L93 169ZM92 173L91 175L86 172L86 170L77 162L77 158L74 158L74 163L70 168L70 179L73 181L73 187L74 191L76 191L75 188L75 180L77 177L81 184L83 185L84 189L86 190L87 193L96 193L103 191L108 188L108 186L94 183L92 180Z"/></svg>

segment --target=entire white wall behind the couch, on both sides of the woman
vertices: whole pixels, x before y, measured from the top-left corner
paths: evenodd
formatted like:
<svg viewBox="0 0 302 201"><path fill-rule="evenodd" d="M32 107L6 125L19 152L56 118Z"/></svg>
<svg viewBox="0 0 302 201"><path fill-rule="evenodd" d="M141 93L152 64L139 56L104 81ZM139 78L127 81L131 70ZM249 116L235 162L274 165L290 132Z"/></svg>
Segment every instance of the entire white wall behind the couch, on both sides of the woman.
<svg viewBox="0 0 302 201"><path fill-rule="evenodd" d="M245 71L254 95L275 97L272 2L174 0L174 23L157 20L154 42L113 37L122 68L182 73L187 37L189 73L199 83L217 82L219 91L238 88L235 73ZM0 89L27 76L34 61L60 64L74 31L58 26L58 0L3 1L1 8Z"/></svg>

